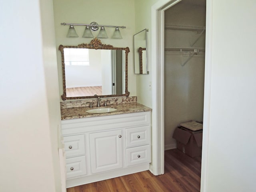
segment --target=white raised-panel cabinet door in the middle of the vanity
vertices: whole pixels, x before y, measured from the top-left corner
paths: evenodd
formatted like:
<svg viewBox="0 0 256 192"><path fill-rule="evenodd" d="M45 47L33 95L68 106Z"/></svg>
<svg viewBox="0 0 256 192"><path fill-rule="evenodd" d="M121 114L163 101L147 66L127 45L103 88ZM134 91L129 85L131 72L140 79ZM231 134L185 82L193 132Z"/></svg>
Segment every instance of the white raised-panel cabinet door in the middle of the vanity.
<svg viewBox="0 0 256 192"><path fill-rule="evenodd" d="M122 130L90 134L92 173L122 168Z"/></svg>

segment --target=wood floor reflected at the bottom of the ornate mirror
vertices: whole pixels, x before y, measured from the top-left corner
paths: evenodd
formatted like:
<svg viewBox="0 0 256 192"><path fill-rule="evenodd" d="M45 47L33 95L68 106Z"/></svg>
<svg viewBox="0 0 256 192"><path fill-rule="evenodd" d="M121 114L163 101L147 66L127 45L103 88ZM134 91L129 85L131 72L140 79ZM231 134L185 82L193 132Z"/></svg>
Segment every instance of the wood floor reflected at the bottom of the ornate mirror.
<svg viewBox="0 0 256 192"><path fill-rule="evenodd" d="M102 86L66 88L67 97L102 95Z"/></svg>

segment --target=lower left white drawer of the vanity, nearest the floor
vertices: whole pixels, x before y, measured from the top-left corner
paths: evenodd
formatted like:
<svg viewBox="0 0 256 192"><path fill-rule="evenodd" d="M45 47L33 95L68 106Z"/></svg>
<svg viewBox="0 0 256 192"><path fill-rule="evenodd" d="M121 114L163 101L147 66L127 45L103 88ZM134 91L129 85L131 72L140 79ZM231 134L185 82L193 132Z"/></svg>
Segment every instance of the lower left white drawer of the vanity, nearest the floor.
<svg viewBox="0 0 256 192"><path fill-rule="evenodd" d="M66 159L67 179L86 175L86 158L85 156L72 157Z"/></svg>

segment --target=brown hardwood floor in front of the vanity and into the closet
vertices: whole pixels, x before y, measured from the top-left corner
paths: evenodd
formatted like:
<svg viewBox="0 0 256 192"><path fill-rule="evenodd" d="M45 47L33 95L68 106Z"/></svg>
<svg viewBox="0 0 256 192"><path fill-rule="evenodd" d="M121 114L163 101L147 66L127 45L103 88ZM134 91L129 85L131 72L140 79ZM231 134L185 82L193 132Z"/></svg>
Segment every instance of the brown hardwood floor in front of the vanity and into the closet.
<svg viewBox="0 0 256 192"><path fill-rule="evenodd" d="M139 172L68 188L67 192L200 192L201 157L165 151L163 175Z"/></svg>

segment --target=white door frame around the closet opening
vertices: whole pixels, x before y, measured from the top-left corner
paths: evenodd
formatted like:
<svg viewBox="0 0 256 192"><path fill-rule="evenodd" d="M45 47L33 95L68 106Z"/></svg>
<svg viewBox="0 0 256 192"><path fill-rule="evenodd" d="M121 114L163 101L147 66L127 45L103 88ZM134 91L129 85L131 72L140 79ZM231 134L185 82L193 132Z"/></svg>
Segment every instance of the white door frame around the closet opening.
<svg viewBox="0 0 256 192"><path fill-rule="evenodd" d="M153 174L164 174L164 11L181 0L158 0L151 7L152 63L152 162ZM212 2L206 0L206 45L204 76L204 132L202 141L201 192L206 191L208 138L210 120L210 87L212 66Z"/></svg>

